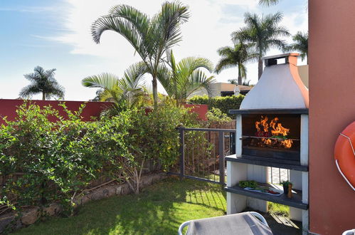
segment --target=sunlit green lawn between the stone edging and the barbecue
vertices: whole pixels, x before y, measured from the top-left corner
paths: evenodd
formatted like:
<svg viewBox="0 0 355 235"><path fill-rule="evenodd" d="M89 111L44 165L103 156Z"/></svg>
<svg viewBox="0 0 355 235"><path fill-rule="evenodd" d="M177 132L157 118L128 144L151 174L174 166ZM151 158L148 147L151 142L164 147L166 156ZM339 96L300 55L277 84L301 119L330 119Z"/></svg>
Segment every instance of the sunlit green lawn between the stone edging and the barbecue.
<svg viewBox="0 0 355 235"><path fill-rule="evenodd" d="M177 234L184 221L225 211L220 185L169 178L139 195L90 202L73 217L49 218L15 234Z"/></svg>

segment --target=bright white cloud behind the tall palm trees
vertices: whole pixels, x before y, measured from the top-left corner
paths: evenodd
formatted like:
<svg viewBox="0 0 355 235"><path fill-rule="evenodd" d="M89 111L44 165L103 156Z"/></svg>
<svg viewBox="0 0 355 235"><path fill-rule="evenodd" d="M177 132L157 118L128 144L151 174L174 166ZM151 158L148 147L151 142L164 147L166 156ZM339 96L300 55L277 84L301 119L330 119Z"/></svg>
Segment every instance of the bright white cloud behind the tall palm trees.
<svg viewBox="0 0 355 235"><path fill-rule="evenodd" d="M118 33L106 31L102 34L100 44L92 41L90 26L95 19L107 14L111 6L116 4L129 4L149 15L159 11L162 1L142 0L65 0L68 7L65 9L65 21L58 35L47 39L59 41L72 46L70 53L76 55L99 56L102 63L88 65L85 74L76 74L83 78L88 73L101 73L103 71L122 75L125 68L140 60L134 56L132 46ZM183 41L174 48L178 59L186 56L204 56L217 63L216 50L221 46L232 45L231 33L243 26L243 13L245 11L261 14L267 9L258 6L258 0L186 0L189 5L191 18L182 29ZM282 25L290 28L292 34L297 31L307 31L307 12L288 11ZM271 50L268 54L278 53ZM218 81L227 81L237 77L236 69L228 69L216 75ZM256 83L258 69L256 63L248 65L248 78ZM85 88L87 89L87 88ZM68 95L69 95L69 89ZM90 94L91 95L91 94ZM86 97L88 99L91 97ZM74 98L75 99L75 98ZM83 99L83 98L81 98Z"/></svg>

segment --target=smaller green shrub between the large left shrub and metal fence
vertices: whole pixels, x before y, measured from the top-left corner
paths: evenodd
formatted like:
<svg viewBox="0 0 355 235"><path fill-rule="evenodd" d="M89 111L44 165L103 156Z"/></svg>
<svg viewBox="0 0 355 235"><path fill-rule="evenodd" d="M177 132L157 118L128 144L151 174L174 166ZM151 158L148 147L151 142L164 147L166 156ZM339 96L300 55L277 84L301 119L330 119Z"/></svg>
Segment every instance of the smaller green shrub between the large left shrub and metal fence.
<svg viewBox="0 0 355 235"><path fill-rule="evenodd" d="M163 169L168 169L179 158L178 126L200 127L196 113L174 105L161 105L147 115L136 115L131 130L131 145L134 155L144 155L159 161Z"/></svg>

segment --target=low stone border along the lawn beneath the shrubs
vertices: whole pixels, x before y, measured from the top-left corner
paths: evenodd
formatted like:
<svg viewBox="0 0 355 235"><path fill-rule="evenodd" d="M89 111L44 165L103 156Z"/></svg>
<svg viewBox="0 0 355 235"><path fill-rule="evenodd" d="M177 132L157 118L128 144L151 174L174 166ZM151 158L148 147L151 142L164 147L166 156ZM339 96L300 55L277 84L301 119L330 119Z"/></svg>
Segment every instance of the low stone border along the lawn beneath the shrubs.
<svg viewBox="0 0 355 235"><path fill-rule="evenodd" d="M145 174L142 176L140 188L143 189L154 182L167 178L166 173ZM132 189L127 183L105 185L84 194L80 197L75 197L73 202L75 207L79 207L85 203L104 199L107 197L131 194ZM5 231L13 231L22 227L34 224L41 216L57 216L63 211L63 207L58 203L50 204L48 207L28 207L23 209L21 213L16 211L0 216L0 234Z"/></svg>

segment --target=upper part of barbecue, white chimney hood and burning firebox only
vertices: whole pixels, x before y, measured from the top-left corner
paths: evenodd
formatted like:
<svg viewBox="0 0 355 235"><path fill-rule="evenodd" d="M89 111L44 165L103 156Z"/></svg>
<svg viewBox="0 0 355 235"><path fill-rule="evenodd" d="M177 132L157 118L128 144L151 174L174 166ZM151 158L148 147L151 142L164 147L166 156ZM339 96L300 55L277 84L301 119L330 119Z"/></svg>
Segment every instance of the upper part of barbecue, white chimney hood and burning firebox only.
<svg viewBox="0 0 355 235"><path fill-rule="evenodd" d="M240 110L231 110L241 117L241 157L300 165L301 115L308 113L308 90L298 75L297 56L265 57L258 84Z"/></svg>

